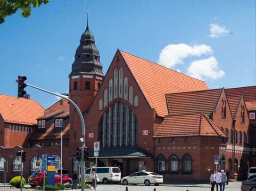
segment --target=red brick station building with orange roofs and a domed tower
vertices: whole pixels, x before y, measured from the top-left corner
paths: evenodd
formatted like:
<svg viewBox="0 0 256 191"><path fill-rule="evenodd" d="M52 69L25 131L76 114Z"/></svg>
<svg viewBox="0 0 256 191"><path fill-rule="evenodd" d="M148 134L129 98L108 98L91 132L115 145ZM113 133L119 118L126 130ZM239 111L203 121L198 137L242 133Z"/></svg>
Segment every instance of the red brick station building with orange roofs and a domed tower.
<svg viewBox="0 0 256 191"><path fill-rule="evenodd" d="M256 166L256 86L209 90L206 83L117 50L102 72L87 25L69 74L69 96L83 112L86 145L100 141L99 166L118 166L123 176L146 169L165 181L208 181L215 169L243 179ZM44 109L31 99L0 95L0 181L19 174L18 150L26 151L27 178L41 154L55 154L60 168L78 169L79 115L65 99ZM86 166L94 165L93 153Z"/></svg>

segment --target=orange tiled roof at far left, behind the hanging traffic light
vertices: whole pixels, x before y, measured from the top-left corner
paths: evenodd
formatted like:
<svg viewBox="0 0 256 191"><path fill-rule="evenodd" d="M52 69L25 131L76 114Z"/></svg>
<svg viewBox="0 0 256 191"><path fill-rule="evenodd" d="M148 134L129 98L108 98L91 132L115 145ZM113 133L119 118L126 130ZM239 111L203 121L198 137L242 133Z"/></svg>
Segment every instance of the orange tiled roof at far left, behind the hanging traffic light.
<svg viewBox="0 0 256 191"><path fill-rule="evenodd" d="M43 113L44 108L33 99L0 94L0 115L5 122L34 125Z"/></svg>

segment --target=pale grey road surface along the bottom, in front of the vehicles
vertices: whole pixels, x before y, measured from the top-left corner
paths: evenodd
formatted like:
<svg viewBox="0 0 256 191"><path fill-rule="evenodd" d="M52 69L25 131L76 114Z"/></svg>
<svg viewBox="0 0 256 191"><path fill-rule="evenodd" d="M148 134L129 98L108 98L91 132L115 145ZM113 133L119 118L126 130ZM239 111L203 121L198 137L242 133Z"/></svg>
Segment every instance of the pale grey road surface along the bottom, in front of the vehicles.
<svg viewBox="0 0 256 191"><path fill-rule="evenodd" d="M231 182L226 185L225 191L240 191L241 182ZM125 191L124 185L121 184L99 184L97 191ZM128 191L210 191L210 184L194 184L194 185L160 185L160 186L144 186L144 185L129 185ZM30 191L38 191L29 189ZM0 187L0 191L20 191L20 189L9 189ZM79 190L77 190L79 191ZM216 191L216 188L215 188Z"/></svg>

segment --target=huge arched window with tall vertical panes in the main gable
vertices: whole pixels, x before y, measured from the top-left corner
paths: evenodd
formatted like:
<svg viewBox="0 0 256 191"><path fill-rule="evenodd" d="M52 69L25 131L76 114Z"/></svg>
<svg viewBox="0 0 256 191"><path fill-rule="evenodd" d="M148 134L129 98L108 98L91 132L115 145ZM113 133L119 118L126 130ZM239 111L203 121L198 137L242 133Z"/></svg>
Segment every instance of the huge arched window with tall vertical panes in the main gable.
<svg viewBox="0 0 256 191"><path fill-rule="evenodd" d="M138 120L132 109L116 102L103 114L100 122L101 146L138 145Z"/></svg>

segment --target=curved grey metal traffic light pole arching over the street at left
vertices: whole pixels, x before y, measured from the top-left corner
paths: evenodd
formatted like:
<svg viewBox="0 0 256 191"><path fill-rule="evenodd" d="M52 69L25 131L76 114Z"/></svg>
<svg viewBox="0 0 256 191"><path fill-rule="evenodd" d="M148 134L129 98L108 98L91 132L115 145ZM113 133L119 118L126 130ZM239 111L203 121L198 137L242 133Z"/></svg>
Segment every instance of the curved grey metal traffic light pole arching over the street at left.
<svg viewBox="0 0 256 191"><path fill-rule="evenodd" d="M26 84L26 83L25 83ZM69 103L71 103L74 108L76 109L77 113L79 114L80 116L80 120L81 120L81 125L82 125L82 135L83 135L83 145L82 145L82 151L84 151L84 148L85 148L85 123L84 123L84 119L83 119L83 114L82 112L80 111L79 107L74 103L74 101L72 101L71 99L69 99L68 97L64 96L64 95L61 95L61 94L58 94L58 93L54 93L54 92L50 92L48 90L44 90L42 88L39 88L39 87L36 87L34 85L31 85L31 84L26 84L27 86L29 87L32 87L34 89L37 89L37 90L40 90L42 92L46 92L46 93L50 93L52 95L55 95L55 96L58 96L60 98L63 98L63 99L67 99L69 101ZM81 171L81 179L82 179L82 183L81 183L81 191L84 191L84 152L82 152L82 159L81 159L81 162L82 162L82 171Z"/></svg>

